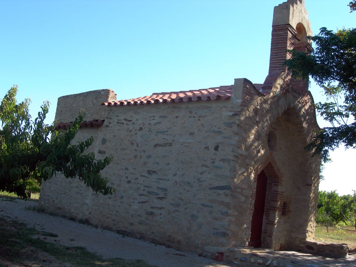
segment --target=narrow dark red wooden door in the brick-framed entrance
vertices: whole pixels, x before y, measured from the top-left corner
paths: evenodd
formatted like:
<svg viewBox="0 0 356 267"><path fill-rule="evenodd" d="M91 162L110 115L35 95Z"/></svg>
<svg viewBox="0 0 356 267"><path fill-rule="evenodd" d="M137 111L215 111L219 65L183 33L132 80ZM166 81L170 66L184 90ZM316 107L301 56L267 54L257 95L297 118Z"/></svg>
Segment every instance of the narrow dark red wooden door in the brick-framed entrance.
<svg viewBox="0 0 356 267"><path fill-rule="evenodd" d="M256 198L251 221L251 238L248 246L260 247L263 213L265 212L265 199L267 188L267 176L264 171L257 176Z"/></svg>

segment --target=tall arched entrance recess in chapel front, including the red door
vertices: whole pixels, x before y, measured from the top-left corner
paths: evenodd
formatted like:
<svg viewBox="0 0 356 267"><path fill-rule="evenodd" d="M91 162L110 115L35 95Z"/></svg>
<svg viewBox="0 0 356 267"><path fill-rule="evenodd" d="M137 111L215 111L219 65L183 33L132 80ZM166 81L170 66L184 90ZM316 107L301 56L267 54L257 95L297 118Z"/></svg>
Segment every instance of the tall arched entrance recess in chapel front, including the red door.
<svg viewBox="0 0 356 267"><path fill-rule="evenodd" d="M286 109L260 135L265 153L253 168L248 246L295 249L313 235L319 162L304 150L309 128L298 114Z"/></svg>

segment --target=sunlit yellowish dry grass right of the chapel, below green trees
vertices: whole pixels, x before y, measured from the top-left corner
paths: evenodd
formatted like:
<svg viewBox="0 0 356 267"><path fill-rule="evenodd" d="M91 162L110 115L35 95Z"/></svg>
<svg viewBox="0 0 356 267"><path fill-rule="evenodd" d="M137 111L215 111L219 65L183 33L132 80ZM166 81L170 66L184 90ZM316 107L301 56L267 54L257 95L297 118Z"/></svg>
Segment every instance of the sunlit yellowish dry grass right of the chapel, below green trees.
<svg viewBox="0 0 356 267"><path fill-rule="evenodd" d="M348 229L348 230L347 230ZM329 232L325 226L315 227L315 239L333 243L346 243L350 250L356 248L356 231L354 227L340 227L340 229L329 227Z"/></svg>

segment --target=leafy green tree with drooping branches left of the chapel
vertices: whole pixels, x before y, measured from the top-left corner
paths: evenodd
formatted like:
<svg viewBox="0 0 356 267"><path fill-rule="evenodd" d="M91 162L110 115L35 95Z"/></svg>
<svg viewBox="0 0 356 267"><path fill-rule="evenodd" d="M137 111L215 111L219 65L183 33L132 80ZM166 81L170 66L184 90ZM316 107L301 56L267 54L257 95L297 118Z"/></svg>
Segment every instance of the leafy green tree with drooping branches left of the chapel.
<svg viewBox="0 0 356 267"><path fill-rule="evenodd" d="M84 120L83 111L68 125L68 129L55 131L54 125L44 122L48 102L41 106L38 117L32 121L28 114L30 100L17 104L16 93L17 86L14 85L0 105L0 190L28 198L30 192L26 187L29 179L41 183L42 179L48 180L57 173L63 173L66 178L77 177L95 192L104 195L115 192L108 186L108 178L100 174L112 158L97 160L94 153L84 153L93 143L93 137L72 144Z"/></svg>

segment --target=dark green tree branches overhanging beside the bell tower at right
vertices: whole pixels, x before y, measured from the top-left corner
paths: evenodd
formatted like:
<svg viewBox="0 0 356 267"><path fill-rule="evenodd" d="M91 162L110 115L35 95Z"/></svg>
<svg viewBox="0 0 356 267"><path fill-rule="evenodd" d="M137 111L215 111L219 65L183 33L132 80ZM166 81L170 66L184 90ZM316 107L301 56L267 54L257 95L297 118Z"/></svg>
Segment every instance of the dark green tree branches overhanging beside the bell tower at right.
<svg viewBox="0 0 356 267"><path fill-rule="evenodd" d="M351 10L355 8L355 1L350 5ZM315 49L310 54L289 50L291 58L284 64L293 77L308 79L310 75L324 90L327 102L316 103L315 108L332 127L318 131L306 149L325 162L329 150L340 144L356 147L356 28L336 32L321 28L308 38Z"/></svg>

